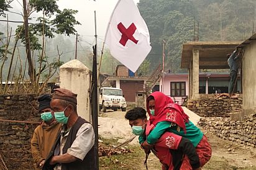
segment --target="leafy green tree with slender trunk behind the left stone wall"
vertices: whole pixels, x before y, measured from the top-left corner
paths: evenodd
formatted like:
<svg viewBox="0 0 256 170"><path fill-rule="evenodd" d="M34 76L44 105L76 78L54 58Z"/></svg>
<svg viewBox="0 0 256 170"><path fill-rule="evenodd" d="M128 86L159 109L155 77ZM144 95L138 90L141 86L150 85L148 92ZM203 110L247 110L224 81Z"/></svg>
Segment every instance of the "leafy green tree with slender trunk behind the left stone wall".
<svg viewBox="0 0 256 170"><path fill-rule="evenodd" d="M24 25L20 25L16 33L22 32L20 38L25 43L27 61L29 63L28 73L30 81L33 83L36 79L36 74L35 65L32 62L31 50L42 51L38 71L38 75L40 76L41 64L45 52L45 37L53 38L54 34L75 34L76 30L74 26L80 24L80 22L74 17L74 14L78 11L72 9L63 9L61 11L58 9L57 1L55 0L30 0L29 4L27 4L26 0L23 0L23 7ZM33 12L42 12L43 17L38 17L37 23L29 25L28 21ZM39 43L37 36L42 36L42 44Z"/></svg>

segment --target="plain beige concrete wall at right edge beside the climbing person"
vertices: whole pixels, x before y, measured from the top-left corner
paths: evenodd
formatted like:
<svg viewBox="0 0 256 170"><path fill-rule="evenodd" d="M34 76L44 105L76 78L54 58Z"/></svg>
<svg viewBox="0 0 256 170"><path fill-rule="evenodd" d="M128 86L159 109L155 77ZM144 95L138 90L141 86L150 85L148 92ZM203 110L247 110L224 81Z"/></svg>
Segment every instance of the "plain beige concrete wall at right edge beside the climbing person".
<svg viewBox="0 0 256 170"><path fill-rule="evenodd" d="M256 112L256 34L238 47L244 50L242 57L242 89L244 114Z"/></svg>

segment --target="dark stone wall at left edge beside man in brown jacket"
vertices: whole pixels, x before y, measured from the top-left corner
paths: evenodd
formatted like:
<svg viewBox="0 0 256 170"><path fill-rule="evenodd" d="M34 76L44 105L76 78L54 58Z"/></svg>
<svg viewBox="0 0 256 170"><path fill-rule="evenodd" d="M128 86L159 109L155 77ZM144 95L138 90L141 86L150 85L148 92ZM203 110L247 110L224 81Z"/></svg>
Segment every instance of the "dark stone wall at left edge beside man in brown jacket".
<svg viewBox="0 0 256 170"><path fill-rule="evenodd" d="M35 95L0 96L0 154L8 169L34 169L30 139L39 121Z"/></svg>

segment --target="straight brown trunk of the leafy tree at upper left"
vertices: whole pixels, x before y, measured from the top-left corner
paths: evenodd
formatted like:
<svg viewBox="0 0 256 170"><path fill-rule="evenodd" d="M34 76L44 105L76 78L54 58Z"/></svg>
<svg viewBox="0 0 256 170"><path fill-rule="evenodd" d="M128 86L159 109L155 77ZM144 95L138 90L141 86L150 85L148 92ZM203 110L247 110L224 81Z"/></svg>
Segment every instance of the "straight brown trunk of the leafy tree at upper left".
<svg viewBox="0 0 256 170"><path fill-rule="evenodd" d="M23 18L24 18L24 30L25 30L25 50L27 53L27 61L29 63L29 78L31 83L35 81L34 66L32 63L30 42L29 42L29 16L27 14L27 1L23 0Z"/></svg>

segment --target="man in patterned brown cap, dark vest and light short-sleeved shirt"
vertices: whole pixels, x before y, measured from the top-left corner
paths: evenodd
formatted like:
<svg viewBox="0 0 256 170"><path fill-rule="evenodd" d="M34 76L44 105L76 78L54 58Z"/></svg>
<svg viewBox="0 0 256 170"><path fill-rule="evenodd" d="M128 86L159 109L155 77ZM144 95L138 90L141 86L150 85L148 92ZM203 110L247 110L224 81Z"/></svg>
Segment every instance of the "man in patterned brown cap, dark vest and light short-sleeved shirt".
<svg viewBox="0 0 256 170"><path fill-rule="evenodd" d="M63 123L60 136L43 169L93 169L94 131L89 122L78 117L76 94L66 89L55 89L51 108L57 122Z"/></svg>

